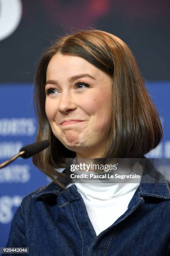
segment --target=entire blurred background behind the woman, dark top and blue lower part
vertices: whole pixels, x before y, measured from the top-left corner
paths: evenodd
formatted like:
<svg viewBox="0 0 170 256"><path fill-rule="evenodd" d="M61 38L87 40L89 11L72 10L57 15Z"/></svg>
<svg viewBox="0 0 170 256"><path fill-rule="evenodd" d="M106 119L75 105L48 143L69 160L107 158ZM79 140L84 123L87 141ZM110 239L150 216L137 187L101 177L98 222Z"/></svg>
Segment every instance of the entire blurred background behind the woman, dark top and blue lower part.
<svg viewBox="0 0 170 256"><path fill-rule="evenodd" d="M107 31L133 51L164 130L147 157L170 158L169 14L169 0L0 0L0 163L35 142L37 62L55 38L78 29ZM48 182L31 159L0 169L0 247L22 198Z"/></svg>

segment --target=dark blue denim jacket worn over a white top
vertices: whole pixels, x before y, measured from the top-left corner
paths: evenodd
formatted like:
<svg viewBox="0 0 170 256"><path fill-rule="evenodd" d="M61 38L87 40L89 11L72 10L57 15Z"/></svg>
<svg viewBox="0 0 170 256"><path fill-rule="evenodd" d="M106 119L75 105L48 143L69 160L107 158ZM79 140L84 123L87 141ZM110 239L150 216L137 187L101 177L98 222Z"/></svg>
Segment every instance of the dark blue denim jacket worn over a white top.
<svg viewBox="0 0 170 256"><path fill-rule="evenodd" d="M157 182L143 183L151 176ZM98 236L76 186L51 182L23 198L6 246L32 256L170 255L170 182L144 170L126 212Z"/></svg>

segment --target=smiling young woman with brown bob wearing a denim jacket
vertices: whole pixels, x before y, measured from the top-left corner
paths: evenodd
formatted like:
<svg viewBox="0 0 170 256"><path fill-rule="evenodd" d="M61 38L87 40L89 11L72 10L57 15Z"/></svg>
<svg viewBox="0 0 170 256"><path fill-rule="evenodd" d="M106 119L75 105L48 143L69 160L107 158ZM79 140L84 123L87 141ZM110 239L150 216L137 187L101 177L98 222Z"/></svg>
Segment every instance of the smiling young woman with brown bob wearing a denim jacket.
<svg viewBox="0 0 170 256"><path fill-rule="evenodd" d="M170 188L162 175L151 183L158 171L147 167L148 183L147 168L138 183L65 179L67 158L143 158L160 143L160 119L128 46L100 30L58 38L40 60L34 100L37 141L50 147L33 163L53 181L23 199L7 246L34 256L168 255Z"/></svg>

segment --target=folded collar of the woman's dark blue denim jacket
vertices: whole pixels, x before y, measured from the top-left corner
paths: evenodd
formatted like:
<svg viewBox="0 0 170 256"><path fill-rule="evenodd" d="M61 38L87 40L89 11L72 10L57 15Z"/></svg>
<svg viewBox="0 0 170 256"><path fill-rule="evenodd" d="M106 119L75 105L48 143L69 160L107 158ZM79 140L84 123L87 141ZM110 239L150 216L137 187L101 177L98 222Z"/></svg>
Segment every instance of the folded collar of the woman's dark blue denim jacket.
<svg viewBox="0 0 170 256"><path fill-rule="evenodd" d="M138 187L138 195L142 197L150 196L170 200L170 182L165 179L163 174L158 172L153 167L153 164L147 158L145 158L145 160L145 168ZM62 184L66 186L66 183L63 180ZM61 191L68 191L68 189L70 189L70 187L63 189L52 181L49 184L35 190L35 192L32 193L32 198L37 198L45 194L57 195Z"/></svg>

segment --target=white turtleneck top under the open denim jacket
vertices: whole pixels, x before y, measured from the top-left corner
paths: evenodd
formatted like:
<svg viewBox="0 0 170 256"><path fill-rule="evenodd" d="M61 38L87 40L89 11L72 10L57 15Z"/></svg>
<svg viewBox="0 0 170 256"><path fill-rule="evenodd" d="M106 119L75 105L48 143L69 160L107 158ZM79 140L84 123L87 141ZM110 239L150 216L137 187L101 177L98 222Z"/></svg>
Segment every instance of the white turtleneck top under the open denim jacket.
<svg viewBox="0 0 170 256"><path fill-rule="evenodd" d="M140 166L141 175L142 172ZM133 179L131 180L133 182ZM75 184L82 196L88 216L98 236L128 209L140 180L138 183L71 183L67 187L72 184Z"/></svg>

